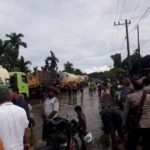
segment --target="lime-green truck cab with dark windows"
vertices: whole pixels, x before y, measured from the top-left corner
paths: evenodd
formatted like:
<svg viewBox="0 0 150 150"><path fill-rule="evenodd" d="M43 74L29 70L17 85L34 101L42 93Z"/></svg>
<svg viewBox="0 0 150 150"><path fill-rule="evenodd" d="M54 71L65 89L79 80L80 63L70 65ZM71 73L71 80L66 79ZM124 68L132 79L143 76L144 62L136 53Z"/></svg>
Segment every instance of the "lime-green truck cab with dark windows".
<svg viewBox="0 0 150 150"><path fill-rule="evenodd" d="M10 72L9 74L11 87L18 87L19 93L29 97L27 75L23 72Z"/></svg>

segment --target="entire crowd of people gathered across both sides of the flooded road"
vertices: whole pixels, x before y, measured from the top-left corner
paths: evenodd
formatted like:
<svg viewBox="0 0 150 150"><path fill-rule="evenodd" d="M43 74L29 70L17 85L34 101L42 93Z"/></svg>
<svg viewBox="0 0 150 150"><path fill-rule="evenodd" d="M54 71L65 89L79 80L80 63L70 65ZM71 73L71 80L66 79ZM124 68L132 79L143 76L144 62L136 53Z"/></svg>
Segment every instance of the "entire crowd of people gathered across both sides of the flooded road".
<svg viewBox="0 0 150 150"><path fill-rule="evenodd" d="M89 92L96 84L89 84ZM76 97L77 90L83 93L84 84L69 84L69 97ZM91 90L92 89L92 90ZM104 137L111 143L112 150L150 150L150 77L122 81L99 82L97 84L101 104L101 120ZM49 145L53 132L48 121L59 112L58 90L48 87L43 101L43 140ZM74 108L80 124L79 137L82 150L86 150L87 123L81 106ZM30 135L35 121L30 100L19 93L18 88L0 90L0 150L29 150ZM106 141L104 141L106 142Z"/></svg>

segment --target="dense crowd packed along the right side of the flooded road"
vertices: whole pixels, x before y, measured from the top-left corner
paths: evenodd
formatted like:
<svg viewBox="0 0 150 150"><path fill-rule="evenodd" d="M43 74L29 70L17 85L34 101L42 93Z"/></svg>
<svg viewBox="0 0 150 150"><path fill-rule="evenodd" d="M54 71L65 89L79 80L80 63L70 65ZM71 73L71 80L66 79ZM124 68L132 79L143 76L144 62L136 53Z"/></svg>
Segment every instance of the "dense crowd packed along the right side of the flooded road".
<svg viewBox="0 0 150 150"><path fill-rule="evenodd" d="M150 77L98 84L105 138L112 150L150 149ZM107 141L107 143L109 143Z"/></svg>

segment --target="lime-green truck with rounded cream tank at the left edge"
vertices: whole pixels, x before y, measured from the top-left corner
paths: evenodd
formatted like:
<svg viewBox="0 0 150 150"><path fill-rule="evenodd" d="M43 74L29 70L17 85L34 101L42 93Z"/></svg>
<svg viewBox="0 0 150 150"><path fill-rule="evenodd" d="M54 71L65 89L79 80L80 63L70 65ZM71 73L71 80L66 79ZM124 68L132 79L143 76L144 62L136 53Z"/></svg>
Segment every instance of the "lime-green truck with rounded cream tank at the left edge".
<svg viewBox="0 0 150 150"><path fill-rule="evenodd" d="M0 65L0 89L5 87L18 87L19 93L29 97L27 75L23 72L8 72Z"/></svg>

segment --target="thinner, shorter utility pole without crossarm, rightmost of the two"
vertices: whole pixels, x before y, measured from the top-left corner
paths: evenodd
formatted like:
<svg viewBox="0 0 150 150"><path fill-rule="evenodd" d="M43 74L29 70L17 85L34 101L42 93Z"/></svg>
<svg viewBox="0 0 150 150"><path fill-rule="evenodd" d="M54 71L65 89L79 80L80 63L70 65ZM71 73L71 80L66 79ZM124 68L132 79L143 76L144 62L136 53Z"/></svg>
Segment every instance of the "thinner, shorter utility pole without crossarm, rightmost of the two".
<svg viewBox="0 0 150 150"><path fill-rule="evenodd" d="M141 73L141 50L140 50L140 34L139 34L139 25L137 25L137 42L138 42L138 57L139 57L139 74Z"/></svg>

